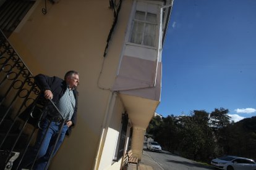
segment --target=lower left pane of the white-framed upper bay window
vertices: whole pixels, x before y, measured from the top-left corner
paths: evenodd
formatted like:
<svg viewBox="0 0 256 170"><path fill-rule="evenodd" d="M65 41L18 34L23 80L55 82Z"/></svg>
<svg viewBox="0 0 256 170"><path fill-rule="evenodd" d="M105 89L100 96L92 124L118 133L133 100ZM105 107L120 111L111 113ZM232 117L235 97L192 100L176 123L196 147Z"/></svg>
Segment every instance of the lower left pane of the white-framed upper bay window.
<svg viewBox="0 0 256 170"><path fill-rule="evenodd" d="M142 44L143 23L134 21L130 42Z"/></svg>

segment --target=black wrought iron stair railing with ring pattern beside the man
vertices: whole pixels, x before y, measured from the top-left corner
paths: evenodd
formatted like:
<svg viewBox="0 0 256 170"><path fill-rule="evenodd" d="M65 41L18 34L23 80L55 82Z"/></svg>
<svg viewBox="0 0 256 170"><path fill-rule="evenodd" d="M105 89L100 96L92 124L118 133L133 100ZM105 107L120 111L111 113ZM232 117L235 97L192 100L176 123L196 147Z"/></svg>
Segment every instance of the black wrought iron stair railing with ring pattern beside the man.
<svg viewBox="0 0 256 170"><path fill-rule="evenodd" d="M31 71L0 30L0 169L22 168L19 166L25 161L24 155L33 147L36 130L43 119L41 115L47 109L61 118L61 131L66 120L52 100L42 102L41 99L40 88ZM28 108L32 108L30 115L22 118ZM33 126L31 121L35 122ZM31 169L36 160L37 156L30 164Z"/></svg>

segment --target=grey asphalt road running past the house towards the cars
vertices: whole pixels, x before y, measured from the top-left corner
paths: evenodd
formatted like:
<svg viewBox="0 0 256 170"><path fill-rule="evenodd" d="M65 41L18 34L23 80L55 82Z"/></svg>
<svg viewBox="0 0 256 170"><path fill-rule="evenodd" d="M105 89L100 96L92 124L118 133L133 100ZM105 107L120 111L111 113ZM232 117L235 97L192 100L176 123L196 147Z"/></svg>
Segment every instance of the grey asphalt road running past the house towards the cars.
<svg viewBox="0 0 256 170"><path fill-rule="evenodd" d="M187 160L177 155L173 155L169 152L150 152L146 148L143 150L143 154L150 156L159 165L160 170L208 170L214 169L208 166L203 166L195 161Z"/></svg>

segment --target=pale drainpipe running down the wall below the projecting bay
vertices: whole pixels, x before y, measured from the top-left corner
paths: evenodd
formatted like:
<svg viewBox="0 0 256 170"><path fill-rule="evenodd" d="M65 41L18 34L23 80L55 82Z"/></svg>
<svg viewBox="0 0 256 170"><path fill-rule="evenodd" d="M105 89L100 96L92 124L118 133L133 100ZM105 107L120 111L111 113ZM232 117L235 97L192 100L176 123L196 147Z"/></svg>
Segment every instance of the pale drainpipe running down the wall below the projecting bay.
<svg viewBox="0 0 256 170"><path fill-rule="evenodd" d="M98 161L101 160L101 153L103 150L103 146L105 144L106 134L108 133L108 125L111 120L111 116L113 114L114 103L116 102L116 95L117 95L116 92L112 92L109 95L108 106L106 108L106 113L103 119L102 130L100 134L100 140L98 142L97 154L95 157L95 164L93 166L93 169L95 170L98 169L98 166L100 165Z"/></svg>

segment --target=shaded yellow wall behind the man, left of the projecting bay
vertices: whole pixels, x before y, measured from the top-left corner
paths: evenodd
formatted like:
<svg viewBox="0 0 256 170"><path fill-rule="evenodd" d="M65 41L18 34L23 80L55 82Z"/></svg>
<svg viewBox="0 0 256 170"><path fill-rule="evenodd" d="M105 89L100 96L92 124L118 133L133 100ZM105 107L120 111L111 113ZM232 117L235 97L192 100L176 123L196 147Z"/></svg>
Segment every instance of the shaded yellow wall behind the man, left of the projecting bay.
<svg viewBox="0 0 256 170"><path fill-rule="evenodd" d="M48 13L41 13L45 1L36 3L31 15L9 39L33 75L63 77L68 70L79 71L77 124L50 169L92 169L132 1L122 4L105 59L106 39L114 19L109 1L62 0L54 5L46 2Z"/></svg>

